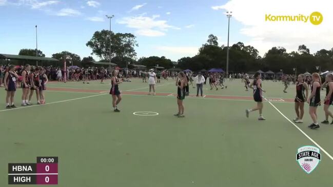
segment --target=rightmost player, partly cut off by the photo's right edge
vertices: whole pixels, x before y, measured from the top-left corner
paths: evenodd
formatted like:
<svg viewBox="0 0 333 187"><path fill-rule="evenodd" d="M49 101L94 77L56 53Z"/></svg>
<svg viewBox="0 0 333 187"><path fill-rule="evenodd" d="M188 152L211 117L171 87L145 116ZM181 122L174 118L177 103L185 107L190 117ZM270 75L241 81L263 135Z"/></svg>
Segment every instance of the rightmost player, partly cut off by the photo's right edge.
<svg viewBox="0 0 333 187"><path fill-rule="evenodd" d="M326 97L324 99L324 112L325 112L325 120L321 123L328 124L328 116L333 118L332 113L328 110L330 105L333 105L333 75L327 74L325 82L322 86L322 88L326 88ZM333 124L333 121L331 122Z"/></svg>

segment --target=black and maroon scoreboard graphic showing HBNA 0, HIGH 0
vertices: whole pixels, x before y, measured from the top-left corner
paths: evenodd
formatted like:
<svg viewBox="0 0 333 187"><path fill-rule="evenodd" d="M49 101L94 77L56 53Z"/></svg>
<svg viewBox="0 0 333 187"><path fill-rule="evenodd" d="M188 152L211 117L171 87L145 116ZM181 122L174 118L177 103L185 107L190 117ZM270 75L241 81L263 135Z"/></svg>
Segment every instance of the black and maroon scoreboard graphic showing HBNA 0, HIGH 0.
<svg viewBox="0 0 333 187"><path fill-rule="evenodd" d="M36 163L8 163L8 184L58 184L58 157L37 157Z"/></svg>

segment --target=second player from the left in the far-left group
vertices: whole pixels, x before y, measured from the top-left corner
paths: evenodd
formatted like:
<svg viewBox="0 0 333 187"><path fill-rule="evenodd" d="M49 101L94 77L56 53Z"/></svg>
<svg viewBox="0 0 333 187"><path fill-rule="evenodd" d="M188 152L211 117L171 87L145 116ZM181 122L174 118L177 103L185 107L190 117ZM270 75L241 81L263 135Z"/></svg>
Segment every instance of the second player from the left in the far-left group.
<svg viewBox="0 0 333 187"><path fill-rule="evenodd" d="M30 65L25 65L22 70L22 82L21 82L21 88L22 88L22 106L31 105L30 102L28 102L28 95L30 93Z"/></svg>

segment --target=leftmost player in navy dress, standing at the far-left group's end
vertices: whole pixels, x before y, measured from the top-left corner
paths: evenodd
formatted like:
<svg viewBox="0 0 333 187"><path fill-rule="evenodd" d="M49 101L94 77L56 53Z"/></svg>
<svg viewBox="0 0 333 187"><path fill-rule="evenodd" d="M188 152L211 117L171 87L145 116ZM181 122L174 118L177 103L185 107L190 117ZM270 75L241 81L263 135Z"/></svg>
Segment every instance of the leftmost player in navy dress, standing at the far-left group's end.
<svg viewBox="0 0 333 187"><path fill-rule="evenodd" d="M18 75L15 72L15 66L10 66L9 71L5 73L5 90L7 91L6 95L6 109L16 108L14 105L14 96L16 91L16 79Z"/></svg>

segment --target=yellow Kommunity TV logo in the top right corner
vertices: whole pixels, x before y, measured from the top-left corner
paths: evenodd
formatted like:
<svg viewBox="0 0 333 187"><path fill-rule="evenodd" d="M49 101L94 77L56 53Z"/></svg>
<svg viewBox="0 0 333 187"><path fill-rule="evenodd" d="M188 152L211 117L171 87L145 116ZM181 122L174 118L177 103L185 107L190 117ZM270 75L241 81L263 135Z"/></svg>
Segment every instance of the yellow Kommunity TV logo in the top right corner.
<svg viewBox="0 0 333 187"><path fill-rule="evenodd" d="M266 22L310 22L312 25L320 25L323 22L323 15L320 12L312 12L310 15L272 15L265 14Z"/></svg>

